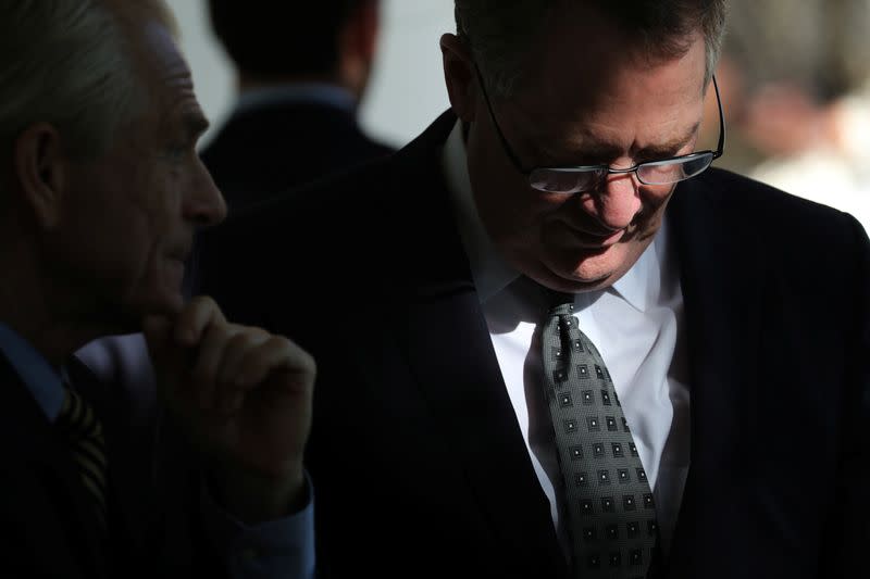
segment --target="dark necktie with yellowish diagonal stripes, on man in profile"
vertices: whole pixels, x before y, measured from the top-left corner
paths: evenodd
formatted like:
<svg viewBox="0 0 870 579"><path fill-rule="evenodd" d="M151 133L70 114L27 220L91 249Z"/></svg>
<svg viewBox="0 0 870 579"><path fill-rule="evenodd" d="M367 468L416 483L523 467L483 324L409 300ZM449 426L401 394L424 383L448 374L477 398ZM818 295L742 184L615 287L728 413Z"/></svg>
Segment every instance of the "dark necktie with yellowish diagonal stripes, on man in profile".
<svg viewBox="0 0 870 579"><path fill-rule="evenodd" d="M57 426L70 444L82 483L94 502L97 519L105 528L105 443L102 425L80 394L65 385Z"/></svg>

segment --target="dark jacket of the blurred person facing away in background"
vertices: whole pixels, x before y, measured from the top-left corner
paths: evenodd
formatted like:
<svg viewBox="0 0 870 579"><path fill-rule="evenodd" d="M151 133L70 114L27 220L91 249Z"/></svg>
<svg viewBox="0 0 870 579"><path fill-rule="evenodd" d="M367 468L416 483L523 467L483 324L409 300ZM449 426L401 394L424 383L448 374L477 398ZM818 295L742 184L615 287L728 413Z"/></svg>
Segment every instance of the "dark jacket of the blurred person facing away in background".
<svg viewBox="0 0 870 579"><path fill-rule="evenodd" d="M319 102L274 102L235 113L202 150L231 211L391 149L366 137L353 113Z"/></svg>

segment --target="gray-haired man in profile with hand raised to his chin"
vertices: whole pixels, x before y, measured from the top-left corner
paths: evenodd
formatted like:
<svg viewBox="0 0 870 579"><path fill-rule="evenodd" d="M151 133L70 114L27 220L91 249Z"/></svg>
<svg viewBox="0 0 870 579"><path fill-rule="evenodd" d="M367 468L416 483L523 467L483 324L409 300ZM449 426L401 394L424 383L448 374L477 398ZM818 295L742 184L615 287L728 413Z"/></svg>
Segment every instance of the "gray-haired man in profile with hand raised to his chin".
<svg viewBox="0 0 870 579"><path fill-rule="evenodd" d="M314 362L182 294L226 206L173 29L162 0L0 0L3 577L313 574ZM73 356L139 330L159 392Z"/></svg>

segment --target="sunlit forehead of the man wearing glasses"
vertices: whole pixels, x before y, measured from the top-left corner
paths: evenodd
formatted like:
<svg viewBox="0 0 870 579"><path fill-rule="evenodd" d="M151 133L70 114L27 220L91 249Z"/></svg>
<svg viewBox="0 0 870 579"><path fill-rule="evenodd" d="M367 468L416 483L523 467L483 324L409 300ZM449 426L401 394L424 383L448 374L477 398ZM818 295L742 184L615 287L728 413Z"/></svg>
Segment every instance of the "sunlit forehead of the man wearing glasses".
<svg viewBox="0 0 870 579"><path fill-rule="evenodd" d="M514 121L539 153L559 162L642 150L669 156L692 142L704 114L700 36L670 58L647 58L612 37L588 51L567 45L554 40L566 50L545 53L538 79L513 102Z"/></svg>

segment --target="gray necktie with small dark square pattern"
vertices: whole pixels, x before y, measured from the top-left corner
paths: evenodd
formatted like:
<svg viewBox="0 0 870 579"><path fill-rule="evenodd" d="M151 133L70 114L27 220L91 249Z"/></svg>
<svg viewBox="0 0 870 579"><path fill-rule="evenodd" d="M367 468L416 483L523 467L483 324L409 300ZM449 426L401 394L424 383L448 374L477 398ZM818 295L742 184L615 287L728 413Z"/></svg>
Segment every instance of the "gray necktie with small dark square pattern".
<svg viewBox="0 0 870 579"><path fill-rule="evenodd" d="M570 299L549 311L540 341L574 575L643 578L658 538L652 493L610 373Z"/></svg>

